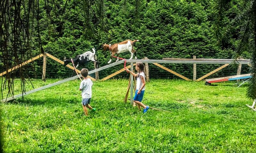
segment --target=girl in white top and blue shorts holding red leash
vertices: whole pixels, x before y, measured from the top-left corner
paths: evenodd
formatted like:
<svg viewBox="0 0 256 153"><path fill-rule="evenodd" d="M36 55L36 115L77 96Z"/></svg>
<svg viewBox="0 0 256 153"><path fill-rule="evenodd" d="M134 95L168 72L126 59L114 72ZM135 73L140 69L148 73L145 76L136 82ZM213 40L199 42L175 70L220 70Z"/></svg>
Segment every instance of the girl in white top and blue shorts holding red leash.
<svg viewBox="0 0 256 153"><path fill-rule="evenodd" d="M144 65L142 62L137 62L135 69L138 71L137 74L133 73L129 69L125 69L127 72L130 72L134 77L137 77L137 84L136 84L136 92L133 98L133 101L137 104L139 110L140 106L143 107L143 113L146 113L149 109L149 106L145 106L143 103L141 103L144 91L145 91L145 74L144 74Z"/></svg>

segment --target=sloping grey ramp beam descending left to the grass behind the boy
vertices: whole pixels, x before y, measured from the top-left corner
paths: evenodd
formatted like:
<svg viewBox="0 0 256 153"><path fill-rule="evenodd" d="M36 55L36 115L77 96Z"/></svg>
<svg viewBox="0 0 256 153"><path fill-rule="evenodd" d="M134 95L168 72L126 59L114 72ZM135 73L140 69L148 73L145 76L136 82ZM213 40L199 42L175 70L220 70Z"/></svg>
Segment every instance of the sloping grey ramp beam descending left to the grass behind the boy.
<svg viewBox="0 0 256 153"><path fill-rule="evenodd" d="M108 69L108 68L110 68L110 67L112 67L112 66L116 66L116 65L122 64L122 63L124 63L123 60L122 60L122 61L119 61L119 62L112 63L112 64L105 65L105 66L100 67L100 68L98 68L98 69L93 69L93 70L91 70L91 71L88 72L88 75L89 75L89 74L92 74L92 73L95 73L95 72L98 72L98 71L101 71L101 70L103 70L103 69ZM82 75L80 74L79 77L82 77ZM67 78L67 79L64 79L64 80L60 80L60 81L55 82L55 83L53 83L53 84L48 84L48 85L46 85L46 86L43 86L43 87L40 87L40 88L31 90L31 91L24 92L24 93L22 93L22 94L19 94L19 95L15 95L15 96L13 96L13 97L6 98L6 99L2 100L2 102L7 102L7 101L10 101L10 100L12 100L12 99L19 98L19 97L28 95L28 94L30 94L30 93L34 93L34 92L36 92L36 91L44 90L44 89L50 88L50 87L52 87L52 86L55 86L55 85L58 85L58 84L62 84L62 83L65 83L65 82L68 82L68 81L71 81L71 80L74 80L74 79L77 79L77 78L78 78L78 76L76 75L76 76L74 76L74 77L70 77L70 78Z"/></svg>

